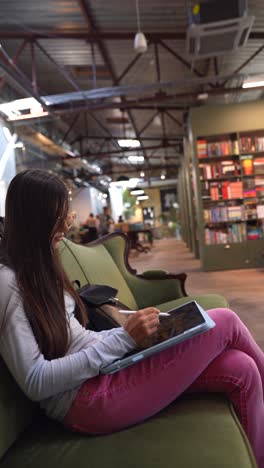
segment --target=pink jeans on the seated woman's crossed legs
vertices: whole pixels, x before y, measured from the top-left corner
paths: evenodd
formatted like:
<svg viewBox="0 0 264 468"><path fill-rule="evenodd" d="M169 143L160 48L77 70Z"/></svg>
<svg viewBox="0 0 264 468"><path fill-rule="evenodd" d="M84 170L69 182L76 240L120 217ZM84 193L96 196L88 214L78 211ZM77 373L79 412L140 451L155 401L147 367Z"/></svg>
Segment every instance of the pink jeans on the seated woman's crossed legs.
<svg viewBox="0 0 264 468"><path fill-rule="evenodd" d="M144 421L183 392L222 392L232 402L264 468L264 355L238 316L213 309L216 326L80 388L64 424L108 434Z"/></svg>

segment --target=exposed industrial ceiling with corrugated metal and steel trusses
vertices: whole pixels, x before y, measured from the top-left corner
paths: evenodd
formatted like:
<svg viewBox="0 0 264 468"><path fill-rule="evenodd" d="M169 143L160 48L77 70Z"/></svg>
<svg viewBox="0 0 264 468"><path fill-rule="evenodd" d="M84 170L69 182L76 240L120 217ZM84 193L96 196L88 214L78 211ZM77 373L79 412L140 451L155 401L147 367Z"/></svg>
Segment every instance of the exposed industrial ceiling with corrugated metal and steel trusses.
<svg viewBox="0 0 264 468"><path fill-rule="evenodd" d="M264 73L263 0L248 2L255 22L244 48L195 63L186 55L190 3L139 0L148 50L138 54L135 0L0 0L2 102L12 94L34 96L44 110L52 104L46 117L13 123L26 147L39 147L49 164L54 152L58 171L79 171L86 180L98 177L93 164L114 180L140 171L155 178L164 169L177 176L184 116L204 105L199 94L210 104L263 93L242 90L240 76ZM119 138L138 138L141 146L125 151ZM67 149L80 156L74 163ZM137 155L144 161L135 165L129 156Z"/></svg>

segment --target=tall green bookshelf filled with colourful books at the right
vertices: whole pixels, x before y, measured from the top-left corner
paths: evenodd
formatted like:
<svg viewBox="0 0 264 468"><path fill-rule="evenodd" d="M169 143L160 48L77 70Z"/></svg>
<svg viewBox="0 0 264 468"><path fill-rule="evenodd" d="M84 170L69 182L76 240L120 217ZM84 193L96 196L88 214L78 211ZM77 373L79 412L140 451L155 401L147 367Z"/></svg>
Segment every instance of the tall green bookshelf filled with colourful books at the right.
<svg viewBox="0 0 264 468"><path fill-rule="evenodd" d="M228 113L228 107L219 106L220 114ZM234 109L233 105L233 114ZM190 131L202 268L210 271L263 266L264 128L248 130L245 123L239 128L236 115L234 131L227 132L222 124L222 133L217 132L216 125L214 133L209 134L201 121L196 128L194 119ZM233 128L229 126L228 130Z"/></svg>

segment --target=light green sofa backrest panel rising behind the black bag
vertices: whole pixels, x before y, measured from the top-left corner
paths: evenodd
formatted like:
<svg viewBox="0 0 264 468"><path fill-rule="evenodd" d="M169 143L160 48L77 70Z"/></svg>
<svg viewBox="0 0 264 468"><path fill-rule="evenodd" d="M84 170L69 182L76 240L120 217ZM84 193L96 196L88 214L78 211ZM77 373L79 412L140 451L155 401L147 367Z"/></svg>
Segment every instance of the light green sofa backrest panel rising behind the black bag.
<svg viewBox="0 0 264 468"><path fill-rule="evenodd" d="M83 275L86 278L86 283L90 284L106 284L112 286L118 290L118 299L126 304L130 309L136 309L136 300L130 291L125 279L120 273L119 268L116 266L111 255L106 250L104 245L93 245L87 246L77 245L71 241L64 241L65 247L68 248L75 260L70 258L70 255L66 255L66 250L61 251L62 263L68 274L70 274L71 280L79 280L82 283ZM73 275L78 275L79 265L81 278ZM73 265L75 268L73 271Z"/></svg>

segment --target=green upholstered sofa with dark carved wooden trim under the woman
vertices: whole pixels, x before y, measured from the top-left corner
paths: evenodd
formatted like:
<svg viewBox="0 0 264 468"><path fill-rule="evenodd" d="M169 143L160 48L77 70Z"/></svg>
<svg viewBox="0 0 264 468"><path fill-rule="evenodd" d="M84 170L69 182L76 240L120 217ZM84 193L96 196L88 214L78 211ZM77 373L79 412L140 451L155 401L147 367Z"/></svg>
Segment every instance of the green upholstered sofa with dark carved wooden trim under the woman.
<svg viewBox="0 0 264 468"><path fill-rule="evenodd" d="M128 265L127 253L126 237L120 233L87 246L67 240L61 245L71 280L111 285L133 309L155 305L166 310L191 299L206 309L227 306L219 295L187 296L183 273L137 275ZM22 394L3 362L0 371L0 468L257 468L247 437L223 395L186 395L144 423L89 437L48 420Z"/></svg>

